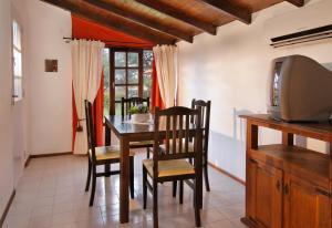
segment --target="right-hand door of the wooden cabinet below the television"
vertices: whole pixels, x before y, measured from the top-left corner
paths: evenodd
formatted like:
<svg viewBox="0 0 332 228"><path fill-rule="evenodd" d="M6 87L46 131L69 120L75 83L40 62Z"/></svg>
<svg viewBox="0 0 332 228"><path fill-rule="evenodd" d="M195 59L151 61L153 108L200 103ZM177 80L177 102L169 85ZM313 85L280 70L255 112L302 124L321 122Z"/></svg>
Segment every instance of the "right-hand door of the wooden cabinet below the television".
<svg viewBox="0 0 332 228"><path fill-rule="evenodd" d="M331 208L328 190L286 175L284 228L330 228Z"/></svg>

